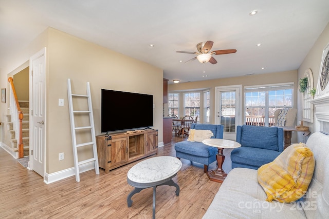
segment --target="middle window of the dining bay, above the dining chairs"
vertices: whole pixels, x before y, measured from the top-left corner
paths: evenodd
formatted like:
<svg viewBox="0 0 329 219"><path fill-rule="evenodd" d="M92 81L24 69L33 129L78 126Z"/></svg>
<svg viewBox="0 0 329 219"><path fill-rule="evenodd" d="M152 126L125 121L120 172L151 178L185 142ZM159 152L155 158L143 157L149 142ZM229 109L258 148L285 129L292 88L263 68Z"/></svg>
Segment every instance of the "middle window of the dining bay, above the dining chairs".
<svg viewBox="0 0 329 219"><path fill-rule="evenodd" d="M193 118L200 115L200 93L185 93L184 94L184 114L190 115Z"/></svg>

